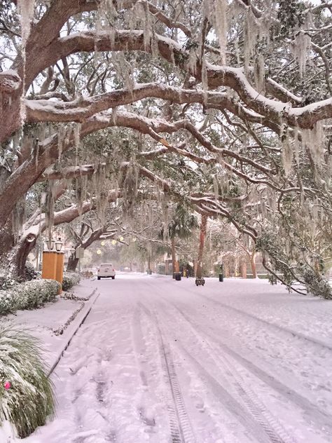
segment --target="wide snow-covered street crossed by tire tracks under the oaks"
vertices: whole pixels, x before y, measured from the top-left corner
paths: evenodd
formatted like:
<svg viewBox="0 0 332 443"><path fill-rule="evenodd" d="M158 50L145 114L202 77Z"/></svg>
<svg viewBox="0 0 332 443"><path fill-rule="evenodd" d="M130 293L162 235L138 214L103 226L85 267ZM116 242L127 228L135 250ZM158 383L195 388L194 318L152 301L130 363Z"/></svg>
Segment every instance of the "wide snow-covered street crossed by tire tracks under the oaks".
<svg viewBox="0 0 332 443"><path fill-rule="evenodd" d="M29 443L332 442L332 302L261 280L117 275Z"/></svg>

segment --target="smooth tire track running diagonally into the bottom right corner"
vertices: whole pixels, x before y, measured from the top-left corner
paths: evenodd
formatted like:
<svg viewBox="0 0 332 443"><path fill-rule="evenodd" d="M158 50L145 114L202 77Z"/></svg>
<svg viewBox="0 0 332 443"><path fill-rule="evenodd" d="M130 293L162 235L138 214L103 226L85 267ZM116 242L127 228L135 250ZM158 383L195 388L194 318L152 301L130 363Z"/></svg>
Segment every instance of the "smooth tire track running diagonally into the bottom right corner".
<svg viewBox="0 0 332 443"><path fill-rule="evenodd" d="M242 355L238 354L232 348L229 348L225 343L221 342L220 336L216 334L216 332L214 332L212 328L208 328L209 331L207 331L206 329L202 328L202 326L199 325L198 322L196 322L192 318L189 318L188 315L186 315L186 313L183 313L181 309L179 309L177 306L175 306L174 304L172 304L172 306L182 315L182 317L186 320L186 322L188 322L189 325L191 325L191 327L194 327L198 332L203 333L205 334L205 336L208 336L210 339L214 340L216 346L219 346L219 348L230 355L230 357L233 357L233 359L237 361L237 363L239 363L242 367L244 367L244 369L247 369L249 372L251 372L251 374L254 374L254 376L263 381L263 383L265 383L266 385L270 386L287 400L291 400L293 404L296 404L297 407L300 407L300 409L304 411L305 416L307 416L310 421L314 421L314 423L317 423L319 426L321 426L321 428L325 429L327 432L330 433L330 435L332 435L332 427L330 424L331 417L325 414L324 411L318 409L315 404L312 404L312 402L303 397L303 395L296 393L296 391L289 388L288 386L285 386L282 382L270 376L268 373L263 371L263 369L256 366L256 364L254 364L250 360L247 360L245 357L242 357Z"/></svg>

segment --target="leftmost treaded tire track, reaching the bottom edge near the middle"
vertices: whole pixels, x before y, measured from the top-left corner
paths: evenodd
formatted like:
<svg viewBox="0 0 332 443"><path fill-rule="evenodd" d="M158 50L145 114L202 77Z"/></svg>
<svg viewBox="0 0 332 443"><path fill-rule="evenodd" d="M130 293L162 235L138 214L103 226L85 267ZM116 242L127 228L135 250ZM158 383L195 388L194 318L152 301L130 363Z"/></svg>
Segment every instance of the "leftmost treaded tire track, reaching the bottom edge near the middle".
<svg viewBox="0 0 332 443"><path fill-rule="evenodd" d="M156 312L151 313L144 304L139 303L139 306L142 311L146 313L148 319L153 322L155 331L157 332L156 337L158 341L162 373L165 385L167 386L167 411L170 420L172 443L195 443L196 439L193 435L191 422L186 411L186 405L181 393L170 346L164 340L165 334L162 333L162 323L160 322L160 318L158 318Z"/></svg>

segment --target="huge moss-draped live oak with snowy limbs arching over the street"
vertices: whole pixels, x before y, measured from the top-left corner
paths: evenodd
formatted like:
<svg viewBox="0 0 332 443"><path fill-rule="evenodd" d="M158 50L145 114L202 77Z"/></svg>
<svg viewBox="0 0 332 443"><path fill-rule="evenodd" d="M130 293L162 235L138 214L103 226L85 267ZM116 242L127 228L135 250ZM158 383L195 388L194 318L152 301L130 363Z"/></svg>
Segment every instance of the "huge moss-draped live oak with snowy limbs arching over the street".
<svg viewBox="0 0 332 443"><path fill-rule="evenodd" d="M331 297L328 286L317 291L324 282L319 254L328 245L321 226L331 225L328 2L1 5L6 272L22 271L40 233L32 226L93 209L102 214L116 198L130 215L149 189L202 216L225 217L287 285L300 280ZM214 166L213 189L198 165ZM63 180L69 203L57 218L54 189ZM27 224L25 204L41 182L52 189L47 207ZM319 247L312 241L318 232Z"/></svg>

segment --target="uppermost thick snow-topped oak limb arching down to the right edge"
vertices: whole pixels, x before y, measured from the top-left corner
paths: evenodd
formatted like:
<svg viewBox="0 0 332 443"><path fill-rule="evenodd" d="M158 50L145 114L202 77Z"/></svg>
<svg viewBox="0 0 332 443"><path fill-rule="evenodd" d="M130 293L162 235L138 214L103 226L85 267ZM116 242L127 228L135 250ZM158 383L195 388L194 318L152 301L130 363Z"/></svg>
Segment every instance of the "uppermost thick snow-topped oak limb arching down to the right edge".
<svg viewBox="0 0 332 443"><path fill-rule="evenodd" d="M111 39L109 32L82 32L57 39L53 43L54 61L59 58L76 53L78 51L107 51L107 50L142 50L152 52L152 45L146 46L144 42L144 31L114 31L114 38ZM181 69L185 69L196 79L202 81L202 65L197 61L194 68L189 67L188 51L182 48L176 41L154 35L160 56L172 64L177 64ZM45 67L43 67L44 69ZM259 93L244 75L243 68L214 65L206 62L207 85L211 89L219 86L228 86L236 91L246 107L254 110L261 116L279 123L280 118L289 126L299 128L312 128L314 123L325 118L332 117L332 99L322 100L306 107L292 107L290 102L278 102ZM273 83L276 87L276 84ZM284 95L288 91L284 90ZM288 94L293 97L291 93Z"/></svg>

